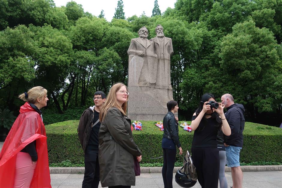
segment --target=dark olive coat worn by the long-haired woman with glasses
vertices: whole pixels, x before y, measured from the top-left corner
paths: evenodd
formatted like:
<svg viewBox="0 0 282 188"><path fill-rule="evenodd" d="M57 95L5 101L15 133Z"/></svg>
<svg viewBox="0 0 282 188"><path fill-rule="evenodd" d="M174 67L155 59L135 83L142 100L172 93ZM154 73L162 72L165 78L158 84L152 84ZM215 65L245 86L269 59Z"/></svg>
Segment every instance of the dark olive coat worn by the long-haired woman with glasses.
<svg viewBox="0 0 282 188"><path fill-rule="evenodd" d="M141 151L135 144L131 120L113 107L99 131L99 163L102 187L135 186L134 157Z"/></svg>

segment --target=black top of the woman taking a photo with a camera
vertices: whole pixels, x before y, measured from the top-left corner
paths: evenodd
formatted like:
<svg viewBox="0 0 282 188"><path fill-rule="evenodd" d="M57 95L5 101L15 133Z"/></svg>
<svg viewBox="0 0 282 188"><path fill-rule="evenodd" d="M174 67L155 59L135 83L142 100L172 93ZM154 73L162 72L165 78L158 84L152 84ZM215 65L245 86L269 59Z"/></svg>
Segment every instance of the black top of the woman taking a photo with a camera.
<svg viewBox="0 0 282 188"><path fill-rule="evenodd" d="M192 121L196 116L192 117ZM192 147L217 147L216 137L219 127L217 122L212 117L206 119L205 117L199 123L198 128L194 132Z"/></svg>

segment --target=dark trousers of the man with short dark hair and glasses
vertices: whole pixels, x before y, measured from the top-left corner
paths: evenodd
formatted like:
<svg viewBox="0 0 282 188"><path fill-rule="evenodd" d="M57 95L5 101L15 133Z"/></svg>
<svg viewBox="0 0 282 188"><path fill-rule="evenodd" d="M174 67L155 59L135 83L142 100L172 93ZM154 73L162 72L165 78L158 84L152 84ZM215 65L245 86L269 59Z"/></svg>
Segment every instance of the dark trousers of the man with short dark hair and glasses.
<svg viewBox="0 0 282 188"><path fill-rule="evenodd" d="M98 151L86 150L84 154L84 178L82 188L98 188L100 182L100 166Z"/></svg>

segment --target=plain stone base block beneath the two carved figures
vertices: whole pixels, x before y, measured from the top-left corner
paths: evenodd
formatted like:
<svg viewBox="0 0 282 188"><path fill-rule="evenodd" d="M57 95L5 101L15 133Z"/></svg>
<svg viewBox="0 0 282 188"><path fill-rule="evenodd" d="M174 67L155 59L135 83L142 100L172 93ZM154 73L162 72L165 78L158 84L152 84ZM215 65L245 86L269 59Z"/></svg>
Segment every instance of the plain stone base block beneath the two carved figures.
<svg viewBox="0 0 282 188"><path fill-rule="evenodd" d="M128 117L131 120L163 121L167 102L173 100L172 89L128 86Z"/></svg>

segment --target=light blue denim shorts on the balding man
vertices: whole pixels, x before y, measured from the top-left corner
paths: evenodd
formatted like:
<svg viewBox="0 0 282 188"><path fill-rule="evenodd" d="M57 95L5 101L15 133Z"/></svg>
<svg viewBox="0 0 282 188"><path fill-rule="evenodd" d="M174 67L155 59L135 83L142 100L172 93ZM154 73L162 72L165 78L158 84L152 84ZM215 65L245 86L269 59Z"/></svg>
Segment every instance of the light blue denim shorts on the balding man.
<svg viewBox="0 0 282 188"><path fill-rule="evenodd" d="M240 166L240 150L241 147L237 146L228 146L225 147L226 151L226 164L228 167L237 167Z"/></svg>

